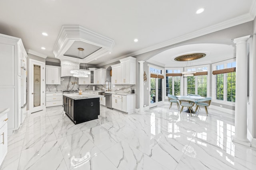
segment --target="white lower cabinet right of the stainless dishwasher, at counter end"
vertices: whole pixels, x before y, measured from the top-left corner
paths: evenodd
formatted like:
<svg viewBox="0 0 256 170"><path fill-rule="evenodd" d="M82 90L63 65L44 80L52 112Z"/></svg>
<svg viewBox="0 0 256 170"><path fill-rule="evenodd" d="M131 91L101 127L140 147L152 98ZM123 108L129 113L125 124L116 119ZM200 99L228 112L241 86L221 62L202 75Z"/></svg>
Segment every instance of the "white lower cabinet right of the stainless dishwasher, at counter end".
<svg viewBox="0 0 256 170"><path fill-rule="evenodd" d="M112 108L131 114L135 112L135 95L112 94Z"/></svg>

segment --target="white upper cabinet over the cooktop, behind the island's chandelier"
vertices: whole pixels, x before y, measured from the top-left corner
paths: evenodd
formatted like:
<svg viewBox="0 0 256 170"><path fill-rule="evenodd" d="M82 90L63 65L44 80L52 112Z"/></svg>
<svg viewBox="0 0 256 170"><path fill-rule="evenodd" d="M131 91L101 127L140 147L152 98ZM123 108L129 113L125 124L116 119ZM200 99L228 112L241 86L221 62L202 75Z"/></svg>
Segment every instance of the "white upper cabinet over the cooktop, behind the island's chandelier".
<svg viewBox="0 0 256 170"><path fill-rule="evenodd" d="M71 70L79 70L79 63L74 63L71 61L61 61L61 77L73 76L70 73Z"/></svg>

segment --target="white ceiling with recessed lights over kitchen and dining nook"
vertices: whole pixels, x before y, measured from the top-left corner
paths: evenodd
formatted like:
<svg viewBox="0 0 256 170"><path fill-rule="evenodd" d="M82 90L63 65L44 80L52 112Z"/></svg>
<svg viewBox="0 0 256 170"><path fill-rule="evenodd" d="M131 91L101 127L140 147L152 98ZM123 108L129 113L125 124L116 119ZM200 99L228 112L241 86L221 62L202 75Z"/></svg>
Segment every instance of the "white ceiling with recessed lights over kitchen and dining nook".
<svg viewBox="0 0 256 170"><path fill-rule="evenodd" d="M254 20L255 6L255 0L8 0L2 1L0 6L0 16L4 16L0 19L0 33L19 37L27 51L36 51L54 59L53 49L62 25L81 25L114 40L112 53L89 63L104 65L185 41L195 35ZM205 10L196 14L199 8ZM48 36L43 36L42 32ZM134 42L135 38L138 42ZM218 44L206 44L200 48L196 45L186 48L207 51L210 55L202 60L215 61L210 57L218 53L216 49L219 47ZM157 58L158 62L170 66L165 57L188 52L178 47L175 49L150 60L156 61ZM228 45L221 49L226 52L234 50ZM77 55L78 52L73 47L65 54Z"/></svg>

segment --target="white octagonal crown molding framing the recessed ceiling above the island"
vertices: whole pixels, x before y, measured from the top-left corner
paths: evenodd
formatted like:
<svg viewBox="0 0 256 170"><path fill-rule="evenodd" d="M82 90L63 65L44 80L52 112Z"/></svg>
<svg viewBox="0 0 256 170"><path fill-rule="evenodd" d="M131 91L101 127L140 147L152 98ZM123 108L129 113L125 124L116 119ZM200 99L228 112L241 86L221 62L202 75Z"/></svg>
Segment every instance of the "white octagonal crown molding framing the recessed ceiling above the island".
<svg viewBox="0 0 256 170"><path fill-rule="evenodd" d="M66 51L68 51L75 41L96 45L101 47L101 49L90 54L86 59L64 56ZM80 25L62 25L53 48L53 53L55 57L60 60L68 60L77 63L85 63L86 61L86 63L89 63L111 52L114 46L115 42L113 39L100 35L99 33L86 29Z"/></svg>

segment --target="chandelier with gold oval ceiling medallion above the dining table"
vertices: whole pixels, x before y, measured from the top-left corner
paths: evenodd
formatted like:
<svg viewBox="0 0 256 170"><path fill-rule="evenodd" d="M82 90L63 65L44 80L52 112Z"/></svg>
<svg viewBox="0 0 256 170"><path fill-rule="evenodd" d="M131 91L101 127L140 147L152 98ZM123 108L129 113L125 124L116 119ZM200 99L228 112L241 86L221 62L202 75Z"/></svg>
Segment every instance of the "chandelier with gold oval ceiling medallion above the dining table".
<svg viewBox="0 0 256 170"><path fill-rule="evenodd" d="M193 66L192 60L201 59L205 56L206 56L206 54L204 54L204 53L192 53L192 54L178 56L174 60L175 61L186 61L187 62L186 67L188 67L189 61L191 62L191 66ZM184 77L188 77L188 76L194 76L195 73L196 73L196 71L194 71L194 70L189 70L189 71L187 70L187 71L182 72L182 75Z"/></svg>

